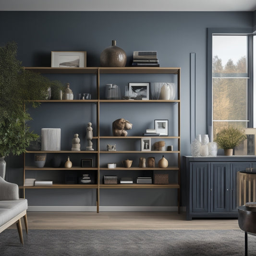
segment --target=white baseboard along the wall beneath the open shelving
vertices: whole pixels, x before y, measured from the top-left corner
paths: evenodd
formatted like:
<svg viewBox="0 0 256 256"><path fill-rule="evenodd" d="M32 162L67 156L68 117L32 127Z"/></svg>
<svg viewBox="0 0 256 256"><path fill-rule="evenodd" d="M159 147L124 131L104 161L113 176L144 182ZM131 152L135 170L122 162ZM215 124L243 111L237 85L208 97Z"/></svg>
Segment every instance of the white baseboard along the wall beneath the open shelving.
<svg viewBox="0 0 256 256"><path fill-rule="evenodd" d="M186 207L180 207L181 212L186 211ZM29 206L27 211L88 211L96 212L96 206ZM100 206L99 211L169 211L176 212L178 207L154 207L154 206Z"/></svg>

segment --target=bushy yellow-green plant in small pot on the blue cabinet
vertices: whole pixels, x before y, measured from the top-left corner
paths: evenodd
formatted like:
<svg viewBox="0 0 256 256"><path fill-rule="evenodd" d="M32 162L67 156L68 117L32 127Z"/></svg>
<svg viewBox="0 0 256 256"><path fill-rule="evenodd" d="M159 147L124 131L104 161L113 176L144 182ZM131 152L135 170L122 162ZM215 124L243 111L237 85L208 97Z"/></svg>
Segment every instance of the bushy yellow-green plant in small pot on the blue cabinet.
<svg viewBox="0 0 256 256"><path fill-rule="evenodd" d="M232 156L233 148L239 146L247 138L243 130L233 127L223 128L216 134L215 142L224 149L225 156Z"/></svg>

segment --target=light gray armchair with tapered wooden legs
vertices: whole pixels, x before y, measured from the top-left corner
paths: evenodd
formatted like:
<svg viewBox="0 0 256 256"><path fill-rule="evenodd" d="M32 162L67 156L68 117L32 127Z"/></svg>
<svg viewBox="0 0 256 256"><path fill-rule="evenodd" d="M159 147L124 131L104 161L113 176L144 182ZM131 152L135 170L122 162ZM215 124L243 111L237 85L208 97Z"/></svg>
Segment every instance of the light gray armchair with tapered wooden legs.
<svg viewBox="0 0 256 256"><path fill-rule="evenodd" d="M16 223L20 241L23 244L21 218L24 218L26 233L27 226L27 200L19 199L17 184L6 182L0 177L0 233Z"/></svg>

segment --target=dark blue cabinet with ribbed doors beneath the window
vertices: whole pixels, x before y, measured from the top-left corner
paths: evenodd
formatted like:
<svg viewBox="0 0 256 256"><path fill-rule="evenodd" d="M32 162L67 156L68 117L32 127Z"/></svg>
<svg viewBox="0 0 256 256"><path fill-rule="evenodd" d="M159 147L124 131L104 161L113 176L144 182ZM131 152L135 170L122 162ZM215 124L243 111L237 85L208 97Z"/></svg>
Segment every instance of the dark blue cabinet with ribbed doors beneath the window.
<svg viewBox="0 0 256 256"><path fill-rule="evenodd" d="M187 219L237 217L236 173L254 166L255 156L184 156Z"/></svg>

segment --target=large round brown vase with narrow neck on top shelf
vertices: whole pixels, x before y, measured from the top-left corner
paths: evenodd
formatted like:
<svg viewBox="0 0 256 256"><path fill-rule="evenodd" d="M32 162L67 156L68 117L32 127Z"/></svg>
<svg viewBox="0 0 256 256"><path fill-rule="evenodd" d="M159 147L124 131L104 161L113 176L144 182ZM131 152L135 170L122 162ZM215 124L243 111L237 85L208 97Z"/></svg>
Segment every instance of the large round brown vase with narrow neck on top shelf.
<svg viewBox="0 0 256 256"><path fill-rule="evenodd" d="M112 40L112 46L104 49L100 54L101 67L125 67L126 53L116 46L116 40Z"/></svg>

